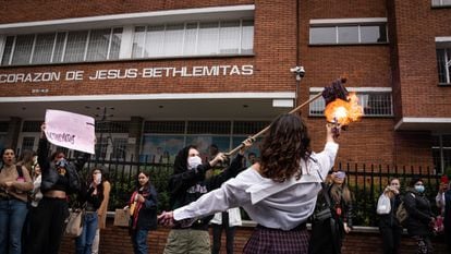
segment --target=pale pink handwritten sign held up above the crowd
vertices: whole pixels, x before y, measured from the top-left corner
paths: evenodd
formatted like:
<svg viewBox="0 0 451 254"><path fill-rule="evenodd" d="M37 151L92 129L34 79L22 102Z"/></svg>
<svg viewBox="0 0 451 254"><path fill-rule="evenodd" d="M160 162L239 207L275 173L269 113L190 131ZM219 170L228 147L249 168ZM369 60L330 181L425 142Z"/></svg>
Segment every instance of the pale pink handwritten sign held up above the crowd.
<svg viewBox="0 0 451 254"><path fill-rule="evenodd" d="M46 110L46 136L57 146L94 154L94 118L61 110Z"/></svg>

